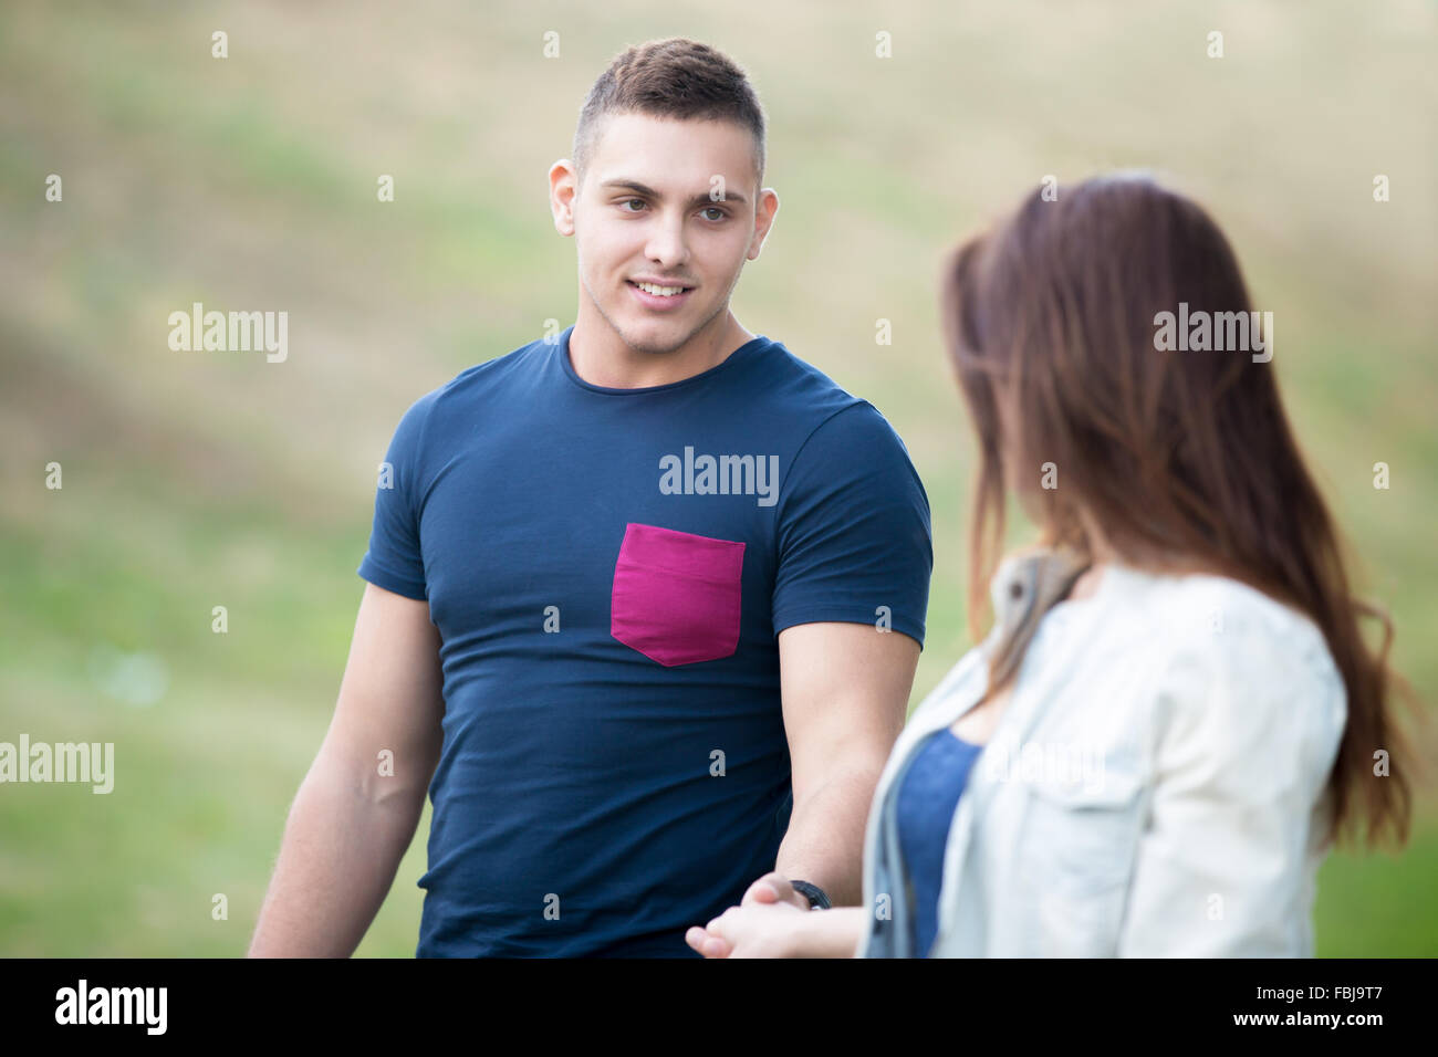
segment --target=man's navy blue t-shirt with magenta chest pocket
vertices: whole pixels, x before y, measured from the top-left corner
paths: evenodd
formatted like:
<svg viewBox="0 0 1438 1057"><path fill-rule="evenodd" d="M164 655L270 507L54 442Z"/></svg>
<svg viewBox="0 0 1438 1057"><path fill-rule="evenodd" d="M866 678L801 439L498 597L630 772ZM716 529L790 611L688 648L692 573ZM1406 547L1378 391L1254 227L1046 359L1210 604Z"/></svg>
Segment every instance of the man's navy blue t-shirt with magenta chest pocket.
<svg viewBox="0 0 1438 1057"><path fill-rule="evenodd" d="M358 572L441 639L418 956L699 956L788 827L778 633L923 643L929 503L871 404L765 337L591 385L572 329L414 401L375 492Z"/></svg>

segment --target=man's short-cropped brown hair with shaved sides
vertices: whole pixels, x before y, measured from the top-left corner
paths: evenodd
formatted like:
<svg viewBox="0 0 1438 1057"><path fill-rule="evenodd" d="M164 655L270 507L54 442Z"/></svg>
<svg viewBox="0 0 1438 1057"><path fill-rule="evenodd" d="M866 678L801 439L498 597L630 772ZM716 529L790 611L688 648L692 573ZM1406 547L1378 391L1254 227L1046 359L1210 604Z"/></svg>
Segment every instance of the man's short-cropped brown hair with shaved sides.
<svg viewBox="0 0 1438 1057"><path fill-rule="evenodd" d="M590 89L574 131L574 165L594 152L604 118L647 114L679 121L733 121L754 134L754 164L764 183L764 108L743 70L709 45L669 37L634 45L614 58Z"/></svg>

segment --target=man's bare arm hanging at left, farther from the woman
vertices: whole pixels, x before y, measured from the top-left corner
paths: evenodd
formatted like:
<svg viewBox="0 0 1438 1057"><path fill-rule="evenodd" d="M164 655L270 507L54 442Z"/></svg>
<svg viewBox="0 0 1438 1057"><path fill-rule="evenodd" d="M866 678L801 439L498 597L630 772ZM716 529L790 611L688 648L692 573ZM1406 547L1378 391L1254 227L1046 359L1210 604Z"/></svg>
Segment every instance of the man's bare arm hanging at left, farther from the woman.
<svg viewBox="0 0 1438 1057"><path fill-rule="evenodd" d="M444 716L429 603L365 585L339 699L299 787L250 958L348 958L414 837ZM380 771L393 752L393 775Z"/></svg>

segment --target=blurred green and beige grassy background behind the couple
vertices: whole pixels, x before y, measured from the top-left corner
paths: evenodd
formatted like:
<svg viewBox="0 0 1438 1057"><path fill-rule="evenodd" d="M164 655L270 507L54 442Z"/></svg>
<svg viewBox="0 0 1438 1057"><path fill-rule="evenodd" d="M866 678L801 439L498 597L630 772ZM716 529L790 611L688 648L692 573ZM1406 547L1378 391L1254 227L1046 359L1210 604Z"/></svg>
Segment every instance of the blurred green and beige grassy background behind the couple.
<svg viewBox="0 0 1438 1057"><path fill-rule="evenodd" d="M1294 426L1431 708L1435 26L1421 0L7 0L0 741L114 742L116 779L0 785L0 953L243 953L334 709L375 466L416 397L574 322L545 174L592 81L653 37L723 49L766 108L782 206L736 315L870 398L928 488L912 705L971 644L940 257L1045 174L1146 167L1212 211L1274 314ZM171 351L193 302L286 311L288 360ZM1435 808L1419 788L1402 854L1329 857L1320 955L1438 953ZM413 955L427 833L429 808L360 955Z"/></svg>

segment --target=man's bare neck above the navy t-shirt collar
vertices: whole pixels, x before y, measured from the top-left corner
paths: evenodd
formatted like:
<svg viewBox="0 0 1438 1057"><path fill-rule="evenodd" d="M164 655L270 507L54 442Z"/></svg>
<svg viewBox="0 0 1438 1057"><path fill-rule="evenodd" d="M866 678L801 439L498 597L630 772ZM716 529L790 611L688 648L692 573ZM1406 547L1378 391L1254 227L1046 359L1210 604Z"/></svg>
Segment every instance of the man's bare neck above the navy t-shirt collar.
<svg viewBox="0 0 1438 1057"><path fill-rule="evenodd" d="M646 352L626 344L605 319L588 326L585 322L581 312L569 332L569 364L581 380L604 388L650 388L693 378L755 337L726 312L723 325L712 334L705 328L673 352Z"/></svg>

